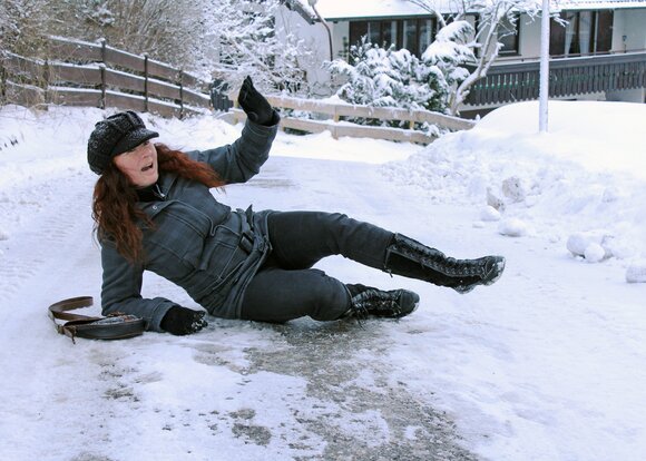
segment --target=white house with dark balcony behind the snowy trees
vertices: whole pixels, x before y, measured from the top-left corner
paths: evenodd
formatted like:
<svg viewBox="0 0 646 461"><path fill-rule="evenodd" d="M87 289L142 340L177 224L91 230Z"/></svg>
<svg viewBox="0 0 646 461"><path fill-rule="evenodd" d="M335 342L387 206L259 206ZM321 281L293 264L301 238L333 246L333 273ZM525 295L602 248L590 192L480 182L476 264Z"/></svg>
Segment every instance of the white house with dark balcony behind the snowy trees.
<svg viewBox="0 0 646 461"><path fill-rule="evenodd" d="M315 10L307 0L285 4L284 26L316 50L317 66L307 73L322 88L329 77L321 63L346 58L362 36L420 56L438 31L437 19L408 0L319 0ZM449 16L454 2L435 4ZM550 97L646 102L646 0L551 0L550 8L568 21L551 20ZM472 87L462 115L538 98L540 19L521 16L516 27L501 27L510 33L499 39L500 55Z"/></svg>

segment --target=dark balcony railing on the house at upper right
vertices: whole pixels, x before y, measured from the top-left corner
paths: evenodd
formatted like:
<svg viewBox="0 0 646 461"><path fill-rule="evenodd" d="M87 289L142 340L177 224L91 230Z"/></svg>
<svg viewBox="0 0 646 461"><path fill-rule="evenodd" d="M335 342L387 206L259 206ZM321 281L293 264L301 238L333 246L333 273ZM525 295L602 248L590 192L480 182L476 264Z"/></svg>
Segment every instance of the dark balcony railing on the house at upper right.
<svg viewBox="0 0 646 461"><path fill-rule="evenodd" d="M532 100L539 97L539 62L499 63L478 80L466 102L471 106ZM646 88L646 51L601 55L549 62L549 96Z"/></svg>

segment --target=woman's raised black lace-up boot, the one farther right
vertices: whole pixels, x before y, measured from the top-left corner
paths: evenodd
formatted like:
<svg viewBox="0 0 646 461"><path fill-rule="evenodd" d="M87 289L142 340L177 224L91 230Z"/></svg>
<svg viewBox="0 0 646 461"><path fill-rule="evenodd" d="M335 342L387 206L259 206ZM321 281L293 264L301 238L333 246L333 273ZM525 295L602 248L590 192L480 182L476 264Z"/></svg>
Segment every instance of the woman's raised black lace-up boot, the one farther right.
<svg viewBox="0 0 646 461"><path fill-rule="evenodd" d="M418 278L458 293L468 293L477 285L491 285L505 271L505 257L454 259L405 235L395 234L385 253L385 271Z"/></svg>

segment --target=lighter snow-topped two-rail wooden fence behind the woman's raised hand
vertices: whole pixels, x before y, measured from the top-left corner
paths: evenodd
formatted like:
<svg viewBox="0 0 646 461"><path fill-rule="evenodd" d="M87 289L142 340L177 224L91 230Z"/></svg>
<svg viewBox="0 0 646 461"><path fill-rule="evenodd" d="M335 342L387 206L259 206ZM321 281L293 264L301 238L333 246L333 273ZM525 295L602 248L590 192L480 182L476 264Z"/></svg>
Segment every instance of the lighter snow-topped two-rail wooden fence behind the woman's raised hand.
<svg viewBox="0 0 646 461"><path fill-rule="evenodd" d="M234 99L235 96L232 95L231 98ZM333 104L313 99L288 98L284 96L268 96L267 100L275 108L306 111L327 117L327 119L316 120L290 117L286 115L281 119L281 128L291 128L306 133L322 133L329 130L334 138L349 136L354 138L430 144L434 140L434 137L412 129L415 122L422 124L427 121L430 125L435 125L440 128L452 131L470 129L474 126L474 121L472 120L451 117L439 112L431 112L428 110L405 110L394 107ZM244 119L245 117L243 110L237 108L231 109L229 121L237 122L239 119ZM356 125L348 121L340 121L341 117L404 121L408 122L410 129Z"/></svg>

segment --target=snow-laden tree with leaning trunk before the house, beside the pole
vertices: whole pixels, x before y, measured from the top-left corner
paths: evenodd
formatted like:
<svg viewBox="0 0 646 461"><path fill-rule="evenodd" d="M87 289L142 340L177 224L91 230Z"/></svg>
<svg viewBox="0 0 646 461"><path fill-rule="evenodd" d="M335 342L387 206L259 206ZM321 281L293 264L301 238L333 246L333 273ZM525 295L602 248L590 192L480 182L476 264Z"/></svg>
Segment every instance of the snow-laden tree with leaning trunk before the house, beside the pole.
<svg viewBox="0 0 646 461"><path fill-rule="evenodd" d="M443 73L452 87L449 107L453 115L469 96L470 87L487 76L502 48L499 39L515 33L521 14L535 20L541 11L540 0L462 0L451 3L452 14L443 16L435 0L409 1L438 20L435 42L423 53L423 60L443 62ZM468 22L469 14L478 17L477 29ZM473 63L470 70L462 66L469 61Z"/></svg>

